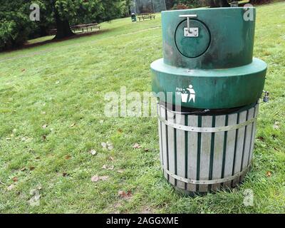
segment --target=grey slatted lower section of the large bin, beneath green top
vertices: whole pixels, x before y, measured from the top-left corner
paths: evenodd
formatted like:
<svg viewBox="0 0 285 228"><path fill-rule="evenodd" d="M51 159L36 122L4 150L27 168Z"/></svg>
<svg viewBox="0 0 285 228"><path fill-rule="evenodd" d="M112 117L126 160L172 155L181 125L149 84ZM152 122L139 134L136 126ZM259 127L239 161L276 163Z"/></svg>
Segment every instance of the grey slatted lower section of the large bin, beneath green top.
<svg viewBox="0 0 285 228"><path fill-rule="evenodd" d="M168 182L190 195L242 182L252 164L258 108L192 115L158 104L160 160Z"/></svg>

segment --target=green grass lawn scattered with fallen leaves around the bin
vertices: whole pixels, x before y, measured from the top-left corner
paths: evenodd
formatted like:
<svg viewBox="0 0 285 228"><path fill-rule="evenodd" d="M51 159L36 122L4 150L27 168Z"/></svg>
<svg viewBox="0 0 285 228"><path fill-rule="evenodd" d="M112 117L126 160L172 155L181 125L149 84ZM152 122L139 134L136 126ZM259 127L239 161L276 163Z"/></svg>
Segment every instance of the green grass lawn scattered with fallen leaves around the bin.
<svg viewBox="0 0 285 228"><path fill-rule="evenodd" d="M119 19L102 24L98 35L0 53L0 212L284 213L285 2L257 13L254 56L269 64L271 100L261 103L254 168L244 185L179 195L162 177L156 118L105 117L105 93L151 90L150 63L162 57L157 14L155 21ZM107 141L113 150L103 150ZM142 148L134 149L136 142ZM108 180L92 182L94 175ZM41 199L33 207L36 188ZM245 207L248 189L254 206Z"/></svg>

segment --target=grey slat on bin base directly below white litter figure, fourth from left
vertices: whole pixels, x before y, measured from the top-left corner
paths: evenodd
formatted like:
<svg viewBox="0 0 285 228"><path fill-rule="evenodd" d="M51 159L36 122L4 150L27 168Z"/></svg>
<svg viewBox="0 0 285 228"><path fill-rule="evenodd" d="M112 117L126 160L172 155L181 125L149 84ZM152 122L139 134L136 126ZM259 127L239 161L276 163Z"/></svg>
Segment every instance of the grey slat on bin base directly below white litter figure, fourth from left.
<svg viewBox="0 0 285 228"><path fill-rule="evenodd" d="M198 116L189 115L188 125L198 127ZM187 158L187 177L196 180L197 178L197 155L198 155L198 133L188 132L188 158ZM196 192L196 185L187 184L187 190Z"/></svg>

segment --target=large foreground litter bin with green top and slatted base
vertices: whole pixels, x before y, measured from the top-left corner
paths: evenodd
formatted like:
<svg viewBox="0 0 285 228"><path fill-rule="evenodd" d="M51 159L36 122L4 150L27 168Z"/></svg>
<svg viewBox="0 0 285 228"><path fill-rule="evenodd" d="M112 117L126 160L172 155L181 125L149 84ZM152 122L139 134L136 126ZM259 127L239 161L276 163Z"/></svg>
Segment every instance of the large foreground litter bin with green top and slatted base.
<svg viewBox="0 0 285 228"><path fill-rule="evenodd" d="M163 58L151 64L160 160L177 190L235 187L252 165L266 63L253 58L256 10L162 11Z"/></svg>

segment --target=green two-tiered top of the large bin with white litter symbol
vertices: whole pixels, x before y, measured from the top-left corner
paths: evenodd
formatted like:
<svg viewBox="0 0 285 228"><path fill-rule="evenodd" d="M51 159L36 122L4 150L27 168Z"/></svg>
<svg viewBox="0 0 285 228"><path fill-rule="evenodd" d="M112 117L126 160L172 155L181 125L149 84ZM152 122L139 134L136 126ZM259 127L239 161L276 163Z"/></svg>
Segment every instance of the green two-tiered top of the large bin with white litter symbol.
<svg viewBox="0 0 285 228"><path fill-rule="evenodd" d="M243 8L192 9L162 12L163 58L152 63L152 90L171 92L170 103L188 108L236 108L256 102L264 88L266 63L253 58L254 21ZM197 37L185 37L187 19ZM194 100L175 99L195 90ZM161 100L168 103L167 95Z"/></svg>

